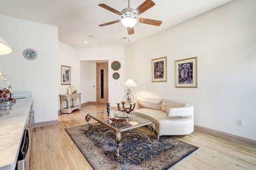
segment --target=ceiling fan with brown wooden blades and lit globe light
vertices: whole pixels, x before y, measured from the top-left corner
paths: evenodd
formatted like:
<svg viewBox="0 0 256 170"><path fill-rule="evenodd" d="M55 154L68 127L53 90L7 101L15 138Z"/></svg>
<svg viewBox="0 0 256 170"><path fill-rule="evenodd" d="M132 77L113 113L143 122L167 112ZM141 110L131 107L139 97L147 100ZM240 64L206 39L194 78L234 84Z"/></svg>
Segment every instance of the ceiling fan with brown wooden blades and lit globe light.
<svg viewBox="0 0 256 170"><path fill-rule="evenodd" d="M143 12L145 12L146 10L148 10L149 8L151 8L154 5L155 5L155 3L152 0L146 0L145 2L143 2L140 6L138 6L134 10L133 8L130 8L130 0L128 0L128 8L124 8L121 12L119 12L118 10L115 10L114 8L111 8L110 6L107 6L106 4L99 4L99 6L101 6L102 8L105 8L106 10L114 12L115 14L118 14L119 16L122 17L121 20L103 23L103 24L100 24L99 26L106 26L106 25L110 25L113 23L121 22L124 25L124 27L127 28L128 35L134 34L133 27L137 22L159 26L159 25L161 25L162 21L150 20L150 19L146 19L146 18L138 18L138 16L140 14L142 14Z"/></svg>

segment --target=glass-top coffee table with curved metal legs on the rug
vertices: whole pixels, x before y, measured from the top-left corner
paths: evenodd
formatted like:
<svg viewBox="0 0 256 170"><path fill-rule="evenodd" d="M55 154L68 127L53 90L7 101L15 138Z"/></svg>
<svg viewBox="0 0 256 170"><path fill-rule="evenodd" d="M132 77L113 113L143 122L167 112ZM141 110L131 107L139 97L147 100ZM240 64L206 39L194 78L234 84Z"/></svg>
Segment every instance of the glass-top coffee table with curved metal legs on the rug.
<svg viewBox="0 0 256 170"><path fill-rule="evenodd" d="M117 118L114 116L114 114L119 115L119 113L120 113L119 111L110 110L111 117ZM125 115L125 116L128 116L128 115ZM141 117L137 117L134 115L130 115L129 119L127 120L127 118L126 118L127 121L126 122L122 121L122 123L116 122L116 120L114 120L114 119L108 119L107 117L108 117L107 111L100 111L100 112L95 112L95 113L88 113L88 115L86 115L85 119L89 125L89 129L92 127L92 125L89 123L91 118L98 122L95 125L95 128L100 133L100 138L98 139L98 141L100 141L101 137L105 133L108 133L108 132L116 133L116 158L119 157L119 144L121 142L121 132L128 131L128 130L137 131L135 128L142 127L145 125L148 125L148 128L151 130L151 133L153 133L155 130L155 125L150 120L143 119ZM100 123L100 125L99 125L99 123ZM109 129L109 131L101 132L100 127L102 127L102 125L107 127ZM137 131L137 132L145 135L147 137L148 141L150 143L152 143L152 141L150 141L151 133L145 134L140 131Z"/></svg>

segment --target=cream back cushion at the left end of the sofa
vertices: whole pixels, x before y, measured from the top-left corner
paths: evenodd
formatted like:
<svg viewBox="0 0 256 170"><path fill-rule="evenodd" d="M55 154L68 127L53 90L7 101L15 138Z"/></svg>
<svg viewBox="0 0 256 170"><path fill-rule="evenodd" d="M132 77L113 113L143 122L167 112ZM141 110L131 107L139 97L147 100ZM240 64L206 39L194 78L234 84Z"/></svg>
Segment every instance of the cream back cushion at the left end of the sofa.
<svg viewBox="0 0 256 170"><path fill-rule="evenodd" d="M148 109L154 109L154 110L161 110L163 99L151 99L151 98L137 98L137 109L140 108L148 108Z"/></svg>

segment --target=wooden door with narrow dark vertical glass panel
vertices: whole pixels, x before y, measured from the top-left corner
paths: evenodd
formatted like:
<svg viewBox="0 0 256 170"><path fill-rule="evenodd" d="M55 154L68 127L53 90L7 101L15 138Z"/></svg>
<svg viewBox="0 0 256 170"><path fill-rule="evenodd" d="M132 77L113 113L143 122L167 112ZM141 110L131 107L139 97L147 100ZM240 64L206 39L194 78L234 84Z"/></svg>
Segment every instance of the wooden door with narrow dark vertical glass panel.
<svg viewBox="0 0 256 170"><path fill-rule="evenodd" d="M97 63L97 104L108 103L108 63Z"/></svg>

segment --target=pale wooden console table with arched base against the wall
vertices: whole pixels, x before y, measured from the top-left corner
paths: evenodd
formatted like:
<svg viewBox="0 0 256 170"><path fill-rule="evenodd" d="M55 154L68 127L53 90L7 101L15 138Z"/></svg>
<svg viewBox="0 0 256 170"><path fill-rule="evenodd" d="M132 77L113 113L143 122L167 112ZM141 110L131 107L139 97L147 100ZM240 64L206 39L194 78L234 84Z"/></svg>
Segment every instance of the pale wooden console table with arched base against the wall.
<svg viewBox="0 0 256 170"><path fill-rule="evenodd" d="M71 113L75 109L81 109L81 93L76 94L59 94L60 96L60 113ZM76 99L79 98L79 105L76 105ZM62 102L66 100L66 108L62 108ZM72 105L70 104L72 102Z"/></svg>

